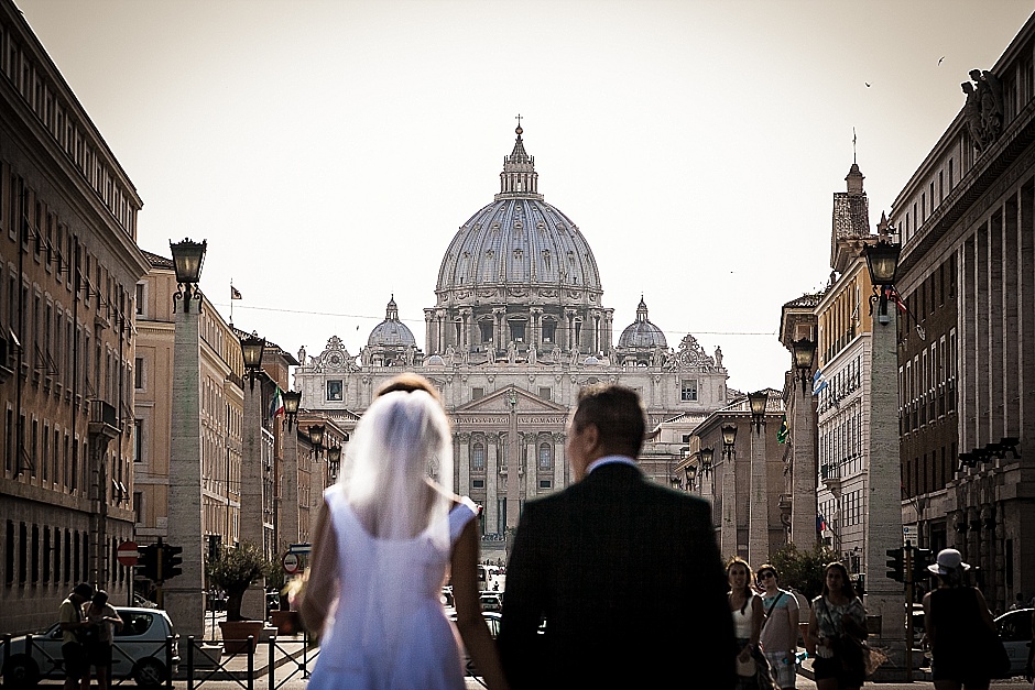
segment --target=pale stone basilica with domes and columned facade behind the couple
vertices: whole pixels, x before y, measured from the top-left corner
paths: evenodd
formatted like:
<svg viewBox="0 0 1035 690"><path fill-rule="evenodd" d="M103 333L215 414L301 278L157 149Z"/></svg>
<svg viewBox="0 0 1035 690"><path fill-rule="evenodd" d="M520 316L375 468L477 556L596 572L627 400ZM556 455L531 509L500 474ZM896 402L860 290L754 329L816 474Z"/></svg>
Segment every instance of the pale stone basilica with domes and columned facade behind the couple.
<svg viewBox="0 0 1035 690"><path fill-rule="evenodd" d="M570 482L565 421L580 387L619 383L640 393L654 431L640 462L663 483L694 426L731 396L721 350L708 354L691 335L669 344L642 296L614 342L589 242L540 193L522 133L499 194L446 248L423 346L391 298L360 352L331 337L318 354L298 353L294 376L303 408L348 429L388 379L429 379L451 418L456 458L455 475L436 479L483 506L489 538L516 526L525 500Z"/></svg>

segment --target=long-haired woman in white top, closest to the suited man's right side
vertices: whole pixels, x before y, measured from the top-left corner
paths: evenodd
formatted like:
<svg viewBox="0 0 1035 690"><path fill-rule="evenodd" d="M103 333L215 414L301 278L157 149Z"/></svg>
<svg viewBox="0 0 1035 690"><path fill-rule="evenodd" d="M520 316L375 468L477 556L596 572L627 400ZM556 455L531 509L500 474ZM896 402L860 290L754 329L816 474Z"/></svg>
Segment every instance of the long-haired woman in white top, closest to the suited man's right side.
<svg viewBox="0 0 1035 690"><path fill-rule="evenodd" d="M726 577L730 582L728 596L733 616L733 635L739 648L737 689L774 688L769 662L759 647L765 611L762 609L762 598L752 588L751 567L743 558L734 556L726 563Z"/></svg>

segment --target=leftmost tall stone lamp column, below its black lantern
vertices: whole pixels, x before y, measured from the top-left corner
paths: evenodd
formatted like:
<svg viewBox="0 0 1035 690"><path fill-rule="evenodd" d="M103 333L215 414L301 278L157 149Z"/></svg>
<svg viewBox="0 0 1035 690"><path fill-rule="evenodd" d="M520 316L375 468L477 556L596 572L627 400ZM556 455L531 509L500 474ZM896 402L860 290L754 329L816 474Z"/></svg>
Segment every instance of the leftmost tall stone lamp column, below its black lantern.
<svg viewBox="0 0 1035 690"><path fill-rule="evenodd" d="M205 635L206 545L201 529L201 352L198 330L200 303L190 311L175 298L173 344L173 408L168 457L168 529L166 541L183 547L182 574L164 589L165 609L176 631Z"/></svg>

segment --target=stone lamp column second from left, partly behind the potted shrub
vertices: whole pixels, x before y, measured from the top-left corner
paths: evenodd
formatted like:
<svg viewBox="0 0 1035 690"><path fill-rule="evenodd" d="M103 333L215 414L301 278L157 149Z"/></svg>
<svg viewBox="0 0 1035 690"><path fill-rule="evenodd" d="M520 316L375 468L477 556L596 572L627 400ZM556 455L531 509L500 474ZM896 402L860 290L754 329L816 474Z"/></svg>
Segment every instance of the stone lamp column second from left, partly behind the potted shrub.
<svg viewBox="0 0 1035 690"><path fill-rule="evenodd" d="M262 380L244 381L244 419L241 429L241 543L251 541L264 548L262 524ZM265 621L265 578L260 578L244 593L241 615L252 621Z"/></svg>

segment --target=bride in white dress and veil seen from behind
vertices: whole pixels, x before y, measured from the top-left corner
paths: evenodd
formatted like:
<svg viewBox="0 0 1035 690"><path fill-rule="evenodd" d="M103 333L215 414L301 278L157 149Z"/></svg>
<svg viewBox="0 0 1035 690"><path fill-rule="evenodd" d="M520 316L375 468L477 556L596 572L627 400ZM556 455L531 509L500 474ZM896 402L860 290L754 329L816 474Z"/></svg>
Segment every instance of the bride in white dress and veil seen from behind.
<svg viewBox="0 0 1035 690"><path fill-rule="evenodd" d="M489 688L506 688L481 616L478 521L451 482L449 421L435 387L402 374L356 428L324 492L299 611L320 636L309 690L462 689L464 667L439 600L451 569L457 628Z"/></svg>

